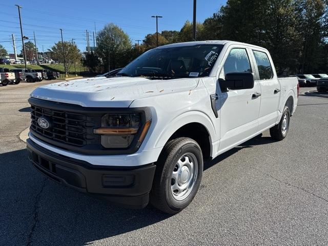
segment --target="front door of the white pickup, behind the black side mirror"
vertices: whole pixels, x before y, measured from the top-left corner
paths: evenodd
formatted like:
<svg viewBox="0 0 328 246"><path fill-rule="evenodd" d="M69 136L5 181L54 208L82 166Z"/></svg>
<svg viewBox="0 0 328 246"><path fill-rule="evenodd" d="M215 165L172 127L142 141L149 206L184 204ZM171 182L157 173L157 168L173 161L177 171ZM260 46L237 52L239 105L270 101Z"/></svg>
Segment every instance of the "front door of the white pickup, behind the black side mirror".
<svg viewBox="0 0 328 246"><path fill-rule="evenodd" d="M253 72L249 50L231 48L224 61L219 78L227 73ZM255 134L258 129L261 88L255 81L254 88L229 90L220 93L220 147L219 153L231 149L244 139ZM256 95L256 97L253 96Z"/></svg>

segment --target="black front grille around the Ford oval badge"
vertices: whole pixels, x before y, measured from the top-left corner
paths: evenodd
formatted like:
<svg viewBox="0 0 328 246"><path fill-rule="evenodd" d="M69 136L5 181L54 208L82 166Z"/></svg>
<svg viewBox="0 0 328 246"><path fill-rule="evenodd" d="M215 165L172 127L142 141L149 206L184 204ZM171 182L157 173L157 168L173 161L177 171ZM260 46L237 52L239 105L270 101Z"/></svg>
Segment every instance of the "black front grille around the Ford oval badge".
<svg viewBox="0 0 328 246"><path fill-rule="evenodd" d="M49 119L51 127L44 129L38 125L38 118ZM90 117L85 114L53 110L31 105L31 129L47 138L62 144L76 147L100 144L100 137L93 129L101 125L101 116Z"/></svg>

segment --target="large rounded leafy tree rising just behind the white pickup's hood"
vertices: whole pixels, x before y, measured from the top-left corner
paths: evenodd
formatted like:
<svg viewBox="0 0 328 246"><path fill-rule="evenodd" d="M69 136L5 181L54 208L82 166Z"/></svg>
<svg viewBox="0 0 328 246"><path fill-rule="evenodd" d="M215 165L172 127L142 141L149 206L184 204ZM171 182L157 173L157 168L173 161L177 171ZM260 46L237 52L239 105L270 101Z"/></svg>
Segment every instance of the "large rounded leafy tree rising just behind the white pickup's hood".
<svg viewBox="0 0 328 246"><path fill-rule="evenodd" d="M131 40L122 29L110 23L97 35L97 55L103 60L105 71L124 67L130 61Z"/></svg>

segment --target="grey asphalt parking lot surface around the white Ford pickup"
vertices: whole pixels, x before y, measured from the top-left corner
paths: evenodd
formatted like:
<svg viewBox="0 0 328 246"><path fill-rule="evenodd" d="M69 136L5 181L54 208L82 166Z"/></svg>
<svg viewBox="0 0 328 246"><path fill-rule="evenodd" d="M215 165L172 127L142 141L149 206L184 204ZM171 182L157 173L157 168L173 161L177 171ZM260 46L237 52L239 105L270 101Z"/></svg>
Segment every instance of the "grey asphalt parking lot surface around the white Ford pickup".
<svg viewBox="0 0 328 246"><path fill-rule="evenodd" d="M328 244L328 98L300 95L283 141L267 131L207 163L194 201L169 216L117 208L32 167L18 135L29 93L48 83L0 87L0 245Z"/></svg>

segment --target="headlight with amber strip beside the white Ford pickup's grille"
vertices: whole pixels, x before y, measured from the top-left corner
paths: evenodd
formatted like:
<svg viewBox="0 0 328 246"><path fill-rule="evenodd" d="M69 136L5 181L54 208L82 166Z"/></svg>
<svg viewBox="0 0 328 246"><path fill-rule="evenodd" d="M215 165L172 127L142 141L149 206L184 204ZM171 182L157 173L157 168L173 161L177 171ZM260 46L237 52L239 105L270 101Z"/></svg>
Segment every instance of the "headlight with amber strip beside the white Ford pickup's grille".
<svg viewBox="0 0 328 246"><path fill-rule="evenodd" d="M150 123L142 113L105 114L101 118L101 128L93 132L101 135L101 145L105 148L128 148L133 141L138 148Z"/></svg>

